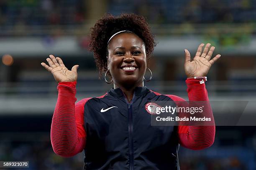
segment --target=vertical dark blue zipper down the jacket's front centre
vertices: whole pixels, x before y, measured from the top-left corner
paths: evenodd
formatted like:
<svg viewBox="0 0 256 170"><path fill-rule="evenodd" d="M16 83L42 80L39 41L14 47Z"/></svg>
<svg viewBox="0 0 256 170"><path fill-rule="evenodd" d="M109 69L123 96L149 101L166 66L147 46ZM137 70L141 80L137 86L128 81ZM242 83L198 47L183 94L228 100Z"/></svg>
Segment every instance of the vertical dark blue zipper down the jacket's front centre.
<svg viewBox="0 0 256 170"><path fill-rule="evenodd" d="M128 103L128 132L129 132L130 170L133 170L133 112L132 112L131 103Z"/></svg>

